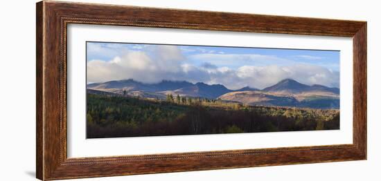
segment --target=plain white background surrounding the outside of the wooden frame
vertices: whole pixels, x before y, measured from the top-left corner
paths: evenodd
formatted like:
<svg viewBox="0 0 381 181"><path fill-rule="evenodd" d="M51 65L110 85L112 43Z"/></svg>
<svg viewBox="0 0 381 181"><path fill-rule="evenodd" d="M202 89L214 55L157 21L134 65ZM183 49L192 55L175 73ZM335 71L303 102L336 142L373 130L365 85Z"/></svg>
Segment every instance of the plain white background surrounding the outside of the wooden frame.
<svg viewBox="0 0 381 181"><path fill-rule="evenodd" d="M74 0L72 0L74 1ZM380 180L381 19L378 1L101 1L161 8L368 21L368 160L248 169L132 175L88 180ZM35 1L0 9L0 180L35 179Z"/></svg>

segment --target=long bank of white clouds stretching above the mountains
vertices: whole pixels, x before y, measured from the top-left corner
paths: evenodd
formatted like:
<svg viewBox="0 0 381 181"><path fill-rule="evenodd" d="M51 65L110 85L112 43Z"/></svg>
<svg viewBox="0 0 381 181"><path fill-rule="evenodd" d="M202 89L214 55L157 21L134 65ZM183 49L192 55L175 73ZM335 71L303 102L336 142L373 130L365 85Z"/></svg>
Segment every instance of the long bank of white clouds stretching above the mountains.
<svg viewBox="0 0 381 181"><path fill-rule="evenodd" d="M88 82L107 82L118 79L135 79L139 82L154 83L163 79L223 84L230 89L244 86L265 88L282 79L291 78L303 84L322 84L338 87L339 73L312 64L287 64L287 66L251 66L242 64L238 68L216 66L215 62L244 59L245 61L281 61L284 59L269 55L220 55L202 54L206 59L201 66L188 64L186 57L177 46L151 46L144 51L129 50L123 56L111 61L91 60L87 63ZM229 60L229 61L228 61ZM211 64L211 62L213 64Z"/></svg>

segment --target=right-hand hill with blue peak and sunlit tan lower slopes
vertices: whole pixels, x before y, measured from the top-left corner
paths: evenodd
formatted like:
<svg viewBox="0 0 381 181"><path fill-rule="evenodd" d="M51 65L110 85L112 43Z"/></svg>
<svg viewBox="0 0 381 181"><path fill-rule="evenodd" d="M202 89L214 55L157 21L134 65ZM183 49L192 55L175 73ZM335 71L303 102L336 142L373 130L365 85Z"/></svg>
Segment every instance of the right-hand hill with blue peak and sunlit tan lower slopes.
<svg viewBox="0 0 381 181"><path fill-rule="evenodd" d="M293 79L283 79L263 90L236 91L218 98L249 105L339 108L339 88L308 86Z"/></svg>

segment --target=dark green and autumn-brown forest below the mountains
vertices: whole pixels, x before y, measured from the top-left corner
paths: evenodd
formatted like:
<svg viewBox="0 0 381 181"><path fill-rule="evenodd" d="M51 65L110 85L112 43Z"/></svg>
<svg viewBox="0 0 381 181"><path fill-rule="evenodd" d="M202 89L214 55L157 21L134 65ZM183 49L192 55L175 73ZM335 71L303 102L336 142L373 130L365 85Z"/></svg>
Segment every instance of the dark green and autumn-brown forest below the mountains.
<svg viewBox="0 0 381 181"><path fill-rule="evenodd" d="M87 93L87 138L339 129L339 110Z"/></svg>

